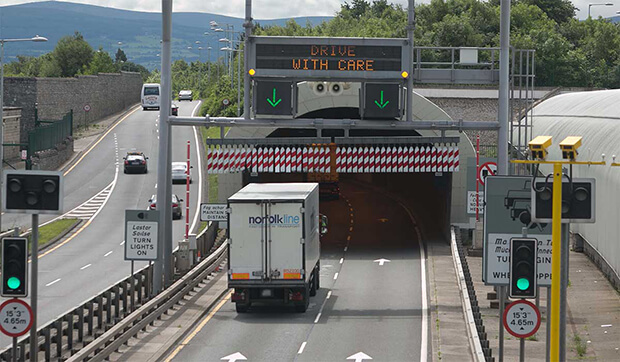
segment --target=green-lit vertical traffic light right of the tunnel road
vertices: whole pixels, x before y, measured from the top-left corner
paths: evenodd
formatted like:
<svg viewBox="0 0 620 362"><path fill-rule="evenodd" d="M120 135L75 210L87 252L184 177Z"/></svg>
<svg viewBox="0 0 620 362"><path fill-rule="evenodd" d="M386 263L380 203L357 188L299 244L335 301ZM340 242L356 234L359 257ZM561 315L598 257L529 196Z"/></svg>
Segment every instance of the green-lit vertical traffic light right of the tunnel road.
<svg viewBox="0 0 620 362"><path fill-rule="evenodd" d="M536 239L510 239L511 298L536 298Z"/></svg>

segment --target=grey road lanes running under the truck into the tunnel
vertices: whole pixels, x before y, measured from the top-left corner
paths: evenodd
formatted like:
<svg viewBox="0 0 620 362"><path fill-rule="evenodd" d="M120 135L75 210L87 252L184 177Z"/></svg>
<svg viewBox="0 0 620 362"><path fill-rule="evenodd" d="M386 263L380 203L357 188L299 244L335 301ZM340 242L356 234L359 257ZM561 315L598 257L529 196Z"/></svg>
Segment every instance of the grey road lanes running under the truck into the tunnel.
<svg viewBox="0 0 620 362"><path fill-rule="evenodd" d="M259 306L237 314L226 296L170 357L345 361L362 352L376 361L426 361L426 284L415 220L377 192L345 183L341 190L340 200L321 203L330 230L322 241L321 289L306 313ZM382 258L390 261L381 266L375 260Z"/></svg>

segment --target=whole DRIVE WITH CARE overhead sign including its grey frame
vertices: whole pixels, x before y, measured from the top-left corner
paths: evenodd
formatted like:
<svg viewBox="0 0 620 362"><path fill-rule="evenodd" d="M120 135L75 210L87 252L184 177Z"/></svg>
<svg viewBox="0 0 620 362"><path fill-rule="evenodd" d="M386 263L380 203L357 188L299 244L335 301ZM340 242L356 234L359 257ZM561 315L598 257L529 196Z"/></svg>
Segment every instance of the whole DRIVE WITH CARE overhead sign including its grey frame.
<svg viewBox="0 0 620 362"><path fill-rule="evenodd" d="M254 76L396 79L407 70L407 39L250 37Z"/></svg>

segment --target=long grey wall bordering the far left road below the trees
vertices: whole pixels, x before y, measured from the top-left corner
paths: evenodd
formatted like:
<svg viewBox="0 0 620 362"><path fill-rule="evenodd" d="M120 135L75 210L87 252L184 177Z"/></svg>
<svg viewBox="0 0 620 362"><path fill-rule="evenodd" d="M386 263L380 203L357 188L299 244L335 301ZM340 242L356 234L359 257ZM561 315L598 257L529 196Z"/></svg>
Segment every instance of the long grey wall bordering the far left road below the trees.
<svg viewBox="0 0 620 362"><path fill-rule="evenodd" d="M75 126L97 122L140 101L139 73L99 74L75 78L4 79L4 105L21 107L21 142L34 128L35 105L39 119L61 119L73 109ZM84 111L89 105L90 111Z"/></svg>

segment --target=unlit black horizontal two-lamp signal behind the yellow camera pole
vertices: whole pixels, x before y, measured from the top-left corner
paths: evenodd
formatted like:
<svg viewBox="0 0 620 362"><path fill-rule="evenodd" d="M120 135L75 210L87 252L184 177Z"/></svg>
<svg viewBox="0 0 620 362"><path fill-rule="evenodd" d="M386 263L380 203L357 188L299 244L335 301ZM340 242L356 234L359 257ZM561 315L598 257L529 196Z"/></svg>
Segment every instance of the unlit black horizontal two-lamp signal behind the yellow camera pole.
<svg viewBox="0 0 620 362"><path fill-rule="evenodd" d="M594 222L594 179L573 179L562 182L562 222ZM553 211L553 183L536 182L532 194L534 221L551 222Z"/></svg>

